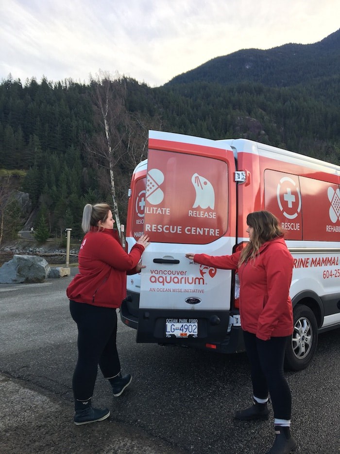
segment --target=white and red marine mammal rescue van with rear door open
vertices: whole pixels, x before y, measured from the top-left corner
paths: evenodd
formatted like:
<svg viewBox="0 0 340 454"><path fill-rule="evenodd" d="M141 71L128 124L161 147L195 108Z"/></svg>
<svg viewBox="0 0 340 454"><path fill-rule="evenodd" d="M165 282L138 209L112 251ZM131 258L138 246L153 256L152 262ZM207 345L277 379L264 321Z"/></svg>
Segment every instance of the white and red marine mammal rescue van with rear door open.
<svg viewBox="0 0 340 454"><path fill-rule="evenodd" d="M137 342L243 350L237 274L185 254L232 254L259 210L279 218L294 257L286 365L305 368L318 334L340 327L340 166L245 139L149 131L129 195L127 247L143 232L151 240L120 311Z"/></svg>

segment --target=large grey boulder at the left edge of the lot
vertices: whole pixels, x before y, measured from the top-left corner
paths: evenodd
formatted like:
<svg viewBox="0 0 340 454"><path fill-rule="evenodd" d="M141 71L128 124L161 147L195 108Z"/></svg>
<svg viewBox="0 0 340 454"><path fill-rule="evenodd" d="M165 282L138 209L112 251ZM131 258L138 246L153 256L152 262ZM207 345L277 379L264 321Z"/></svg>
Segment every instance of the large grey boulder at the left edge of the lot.
<svg viewBox="0 0 340 454"><path fill-rule="evenodd" d="M0 268L0 284L31 284L44 282L50 265L36 255L13 255L12 260Z"/></svg>

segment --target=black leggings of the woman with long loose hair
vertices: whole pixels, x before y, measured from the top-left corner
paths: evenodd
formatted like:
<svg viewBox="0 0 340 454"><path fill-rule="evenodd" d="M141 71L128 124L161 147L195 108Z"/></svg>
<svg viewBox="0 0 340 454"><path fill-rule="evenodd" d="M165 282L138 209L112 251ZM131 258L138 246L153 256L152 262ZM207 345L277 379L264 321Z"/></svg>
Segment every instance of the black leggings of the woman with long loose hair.
<svg viewBox="0 0 340 454"><path fill-rule="evenodd" d="M291 395L283 372L289 337L272 337L269 341L243 331L244 344L251 365L254 396L266 399L271 395L274 418L290 419Z"/></svg>

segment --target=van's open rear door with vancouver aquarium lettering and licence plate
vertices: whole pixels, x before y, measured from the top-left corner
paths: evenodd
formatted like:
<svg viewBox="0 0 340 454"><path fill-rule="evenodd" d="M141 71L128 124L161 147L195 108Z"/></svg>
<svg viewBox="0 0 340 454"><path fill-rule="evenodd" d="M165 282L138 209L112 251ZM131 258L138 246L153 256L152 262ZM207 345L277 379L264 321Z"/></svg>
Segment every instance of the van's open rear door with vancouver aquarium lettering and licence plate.
<svg viewBox="0 0 340 454"><path fill-rule="evenodd" d="M233 152L215 141L149 132L137 342L224 339L231 272L186 253L232 254L236 238Z"/></svg>

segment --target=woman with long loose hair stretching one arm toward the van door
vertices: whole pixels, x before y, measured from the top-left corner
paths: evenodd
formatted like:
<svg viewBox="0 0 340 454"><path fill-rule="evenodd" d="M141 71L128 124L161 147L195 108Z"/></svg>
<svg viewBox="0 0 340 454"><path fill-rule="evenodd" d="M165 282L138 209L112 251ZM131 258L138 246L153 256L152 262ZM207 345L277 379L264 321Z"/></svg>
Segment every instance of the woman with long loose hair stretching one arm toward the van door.
<svg viewBox="0 0 340 454"><path fill-rule="evenodd" d="M267 454L285 454L297 446L290 436L291 395L283 371L286 344L293 332L289 297L293 258L272 213L250 213L247 225L249 243L242 251L215 257L206 254L186 257L203 265L238 270L239 311L251 364L254 405L238 411L235 418L268 419L270 394L276 438Z"/></svg>

